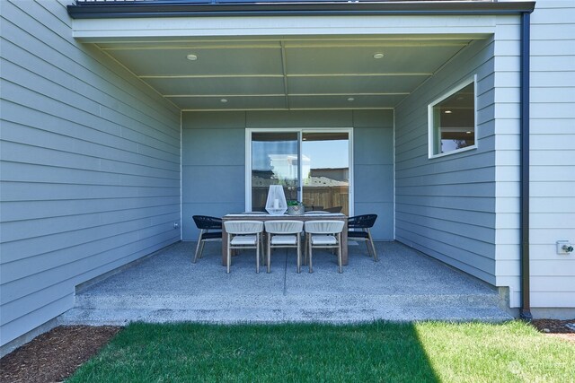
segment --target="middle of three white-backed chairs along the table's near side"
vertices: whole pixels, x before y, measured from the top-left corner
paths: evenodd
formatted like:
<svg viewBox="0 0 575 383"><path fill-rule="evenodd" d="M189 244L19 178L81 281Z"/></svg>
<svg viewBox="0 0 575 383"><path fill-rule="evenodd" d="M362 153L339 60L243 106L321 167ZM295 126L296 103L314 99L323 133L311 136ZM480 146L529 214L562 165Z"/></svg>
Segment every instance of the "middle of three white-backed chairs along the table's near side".
<svg viewBox="0 0 575 383"><path fill-rule="evenodd" d="M268 273L271 270L271 249L272 248L296 248L297 250L297 273L301 272L302 252L300 234L304 230L302 221L266 221L265 229L267 239L267 262Z"/></svg>

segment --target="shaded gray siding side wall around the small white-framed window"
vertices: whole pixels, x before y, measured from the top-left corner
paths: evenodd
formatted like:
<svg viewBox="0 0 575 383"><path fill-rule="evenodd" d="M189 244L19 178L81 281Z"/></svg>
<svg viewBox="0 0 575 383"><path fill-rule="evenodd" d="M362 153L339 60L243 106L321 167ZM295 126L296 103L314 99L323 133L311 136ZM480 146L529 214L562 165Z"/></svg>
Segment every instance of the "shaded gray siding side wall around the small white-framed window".
<svg viewBox="0 0 575 383"><path fill-rule="evenodd" d="M395 110L396 239L496 283L493 39L476 41ZM505 66L506 64L500 64ZM428 158L428 105L477 74L478 149Z"/></svg>

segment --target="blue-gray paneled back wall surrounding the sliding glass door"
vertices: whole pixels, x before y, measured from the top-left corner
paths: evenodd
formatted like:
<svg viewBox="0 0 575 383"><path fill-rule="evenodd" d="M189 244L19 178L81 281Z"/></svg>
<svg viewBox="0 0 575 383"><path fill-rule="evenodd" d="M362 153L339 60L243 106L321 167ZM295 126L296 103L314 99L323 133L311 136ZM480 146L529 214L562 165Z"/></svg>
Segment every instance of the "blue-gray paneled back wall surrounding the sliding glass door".
<svg viewBox="0 0 575 383"><path fill-rule="evenodd" d="M392 110L184 112L182 238L198 238L194 214L245 210L245 129L282 127L353 127L354 212L378 214L374 238L394 239Z"/></svg>

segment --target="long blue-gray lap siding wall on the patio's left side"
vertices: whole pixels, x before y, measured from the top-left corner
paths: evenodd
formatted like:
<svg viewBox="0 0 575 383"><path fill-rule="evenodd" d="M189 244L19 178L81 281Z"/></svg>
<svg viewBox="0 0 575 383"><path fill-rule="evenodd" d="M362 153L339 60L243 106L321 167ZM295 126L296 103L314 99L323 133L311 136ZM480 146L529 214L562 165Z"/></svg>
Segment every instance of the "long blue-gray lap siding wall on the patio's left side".
<svg viewBox="0 0 575 383"><path fill-rule="evenodd" d="M180 111L77 43L68 3L0 2L3 346L181 236Z"/></svg>

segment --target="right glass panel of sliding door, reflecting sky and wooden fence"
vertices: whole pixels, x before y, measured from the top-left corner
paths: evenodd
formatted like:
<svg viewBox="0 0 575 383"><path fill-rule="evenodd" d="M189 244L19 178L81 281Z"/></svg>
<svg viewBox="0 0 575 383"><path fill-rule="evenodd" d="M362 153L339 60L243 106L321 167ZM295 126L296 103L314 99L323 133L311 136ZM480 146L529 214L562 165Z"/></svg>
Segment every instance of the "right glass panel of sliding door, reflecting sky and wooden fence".
<svg viewBox="0 0 575 383"><path fill-rule="evenodd" d="M303 203L306 210L349 215L349 134L302 134Z"/></svg>

